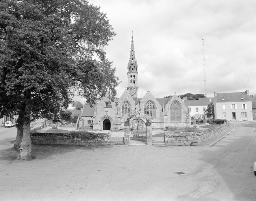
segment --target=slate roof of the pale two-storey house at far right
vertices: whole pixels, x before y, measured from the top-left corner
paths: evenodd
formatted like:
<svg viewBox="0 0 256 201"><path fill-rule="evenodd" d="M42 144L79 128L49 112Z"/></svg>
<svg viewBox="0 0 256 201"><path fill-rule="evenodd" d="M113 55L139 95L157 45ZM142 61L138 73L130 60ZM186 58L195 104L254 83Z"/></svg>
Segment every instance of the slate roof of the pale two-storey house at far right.
<svg viewBox="0 0 256 201"><path fill-rule="evenodd" d="M244 102L252 101L246 92L217 93L216 102Z"/></svg>

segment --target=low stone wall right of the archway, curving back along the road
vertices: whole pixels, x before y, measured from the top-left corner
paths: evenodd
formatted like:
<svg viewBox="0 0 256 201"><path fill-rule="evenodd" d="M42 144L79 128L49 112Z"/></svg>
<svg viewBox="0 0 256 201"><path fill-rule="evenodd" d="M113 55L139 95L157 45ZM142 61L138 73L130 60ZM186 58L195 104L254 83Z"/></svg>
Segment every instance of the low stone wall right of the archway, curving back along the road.
<svg viewBox="0 0 256 201"><path fill-rule="evenodd" d="M172 133L165 132L165 145L197 146L201 145L229 128L229 124L221 124L215 128L209 128L197 133Z"/></svg>

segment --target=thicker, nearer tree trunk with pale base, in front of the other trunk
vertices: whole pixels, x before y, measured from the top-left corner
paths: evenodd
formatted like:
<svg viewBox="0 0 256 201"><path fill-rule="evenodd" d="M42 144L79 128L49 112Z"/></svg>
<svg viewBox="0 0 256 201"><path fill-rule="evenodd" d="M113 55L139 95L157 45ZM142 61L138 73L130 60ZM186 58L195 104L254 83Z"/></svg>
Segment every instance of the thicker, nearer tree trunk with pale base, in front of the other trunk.
<svg viewBox="0 0 256 201"><path fill-rule="evenodd" d="M24 113L24 123L23 123L23 136L20 143L20 154L17 159L30 160L32 159L32 144L30 140L30 113L31 113L31 92L28 91L26 95L26 106Z"/></svg>

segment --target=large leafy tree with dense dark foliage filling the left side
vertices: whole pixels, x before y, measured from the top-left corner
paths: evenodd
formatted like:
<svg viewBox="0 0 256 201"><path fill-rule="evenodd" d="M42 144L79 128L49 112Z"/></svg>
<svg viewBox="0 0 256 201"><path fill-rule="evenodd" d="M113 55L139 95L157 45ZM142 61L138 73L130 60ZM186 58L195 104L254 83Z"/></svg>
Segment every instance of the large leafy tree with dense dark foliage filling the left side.
<svg viewBox="0 0 256 201"><path fill-rule="evenodd" d="M58 116L76 91L89 104L116 95L104 51L114 35L106 14L85 0L0 2L0 109L19 115L19 159L32 157L31 119Z"/></svg>

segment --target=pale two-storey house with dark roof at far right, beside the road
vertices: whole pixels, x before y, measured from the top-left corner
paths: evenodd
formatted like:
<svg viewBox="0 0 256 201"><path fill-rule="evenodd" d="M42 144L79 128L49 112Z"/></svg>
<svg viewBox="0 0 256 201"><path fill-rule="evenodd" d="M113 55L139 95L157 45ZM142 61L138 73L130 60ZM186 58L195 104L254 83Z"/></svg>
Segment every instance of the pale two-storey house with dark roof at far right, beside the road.
<svg viewBox="0 0 256 201"><path fill-rule="evenodd" d="M234 93L214 92L215 119L252 121L252 98L249 90Z"/></svg>

